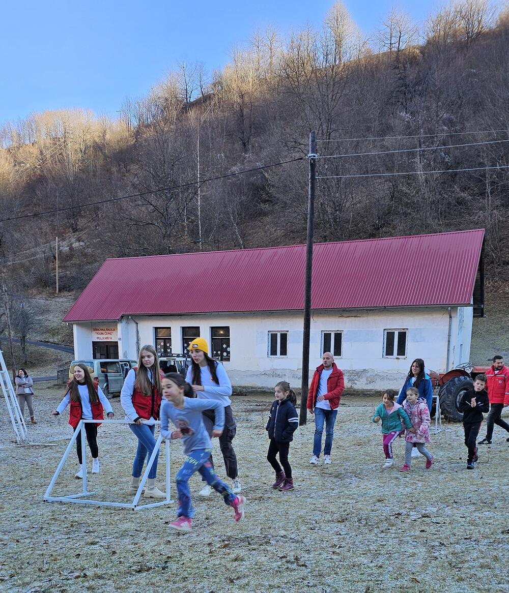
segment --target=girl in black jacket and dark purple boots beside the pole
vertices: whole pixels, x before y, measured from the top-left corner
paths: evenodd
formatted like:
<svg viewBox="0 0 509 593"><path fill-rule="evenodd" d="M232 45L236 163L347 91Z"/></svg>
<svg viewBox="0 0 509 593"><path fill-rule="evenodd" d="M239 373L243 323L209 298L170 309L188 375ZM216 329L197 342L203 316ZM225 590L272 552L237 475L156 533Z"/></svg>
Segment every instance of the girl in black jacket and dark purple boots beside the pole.
<svg viewBox="0 0 509 593"><path fill-rule="evenodd" d="M298 415L295 410L297 397L290 383L279 381L274 387L274 397L269 413L269 420L265 430L269 432L269 451L267 452L267 461L276 472L276 481L272 484L273 488L278 488L283 492L294 489L294 480L292 478L292 468L288 463L288 451L290 442L293 441L293 433L298 427ZM279 453L279 461L276 460L276 454Z"/></svg>

